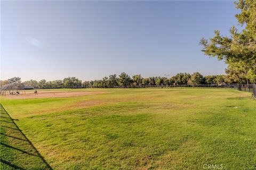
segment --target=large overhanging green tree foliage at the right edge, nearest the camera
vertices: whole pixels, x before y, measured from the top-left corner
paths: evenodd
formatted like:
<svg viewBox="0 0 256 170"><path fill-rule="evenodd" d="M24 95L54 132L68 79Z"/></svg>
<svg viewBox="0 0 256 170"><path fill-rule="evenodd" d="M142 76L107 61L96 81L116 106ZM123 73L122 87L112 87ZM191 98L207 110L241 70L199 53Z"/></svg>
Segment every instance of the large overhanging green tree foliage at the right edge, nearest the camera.
<svg viewBox="0 0 256 170"><path fill-rule="evenodd" d="M221 36L220 31L215 30L213 38L202 38L200 44L203 45L205 55L225 60L229 65L226 73L232 73L234 79L236 73L239 79L235 81L242 82L241 78L247 78L247 74L251 74L249 78L256 74L256 1L239 0L235 4L241 10L241 13L235 15L237 21L241 25L245 24L245 28L239 32L235 26L231 27L230 37Z"/></svg>

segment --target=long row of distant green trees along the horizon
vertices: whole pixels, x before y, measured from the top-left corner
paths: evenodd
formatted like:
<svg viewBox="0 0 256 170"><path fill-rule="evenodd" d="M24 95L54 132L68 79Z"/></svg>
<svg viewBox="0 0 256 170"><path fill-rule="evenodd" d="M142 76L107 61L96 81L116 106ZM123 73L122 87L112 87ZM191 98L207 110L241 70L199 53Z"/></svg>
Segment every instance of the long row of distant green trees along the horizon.
<svg viewBox="0 0 256 170"><path fill-rule="evenodd" d="M14 77L8 80L0 81L1 86L8 83L18 82L25 86L33 86L36 89L59 89L59 88L111 88L111 87L127 87L127 86L166 86L169 85L196 85L196 84L221 84L221 83L245 83L237 82L236 79L231 79L228 75L206 75L203 76L199 72L193 74L178 73L170 78L166 77L149 77L143 78L141 74L136 74L130 77L126 73L121 73L118 76L111 74L109 77L103 77L101 80L82 81L75 77L68 77L63 80L29 80L21 81L21 78Z"/></svg>

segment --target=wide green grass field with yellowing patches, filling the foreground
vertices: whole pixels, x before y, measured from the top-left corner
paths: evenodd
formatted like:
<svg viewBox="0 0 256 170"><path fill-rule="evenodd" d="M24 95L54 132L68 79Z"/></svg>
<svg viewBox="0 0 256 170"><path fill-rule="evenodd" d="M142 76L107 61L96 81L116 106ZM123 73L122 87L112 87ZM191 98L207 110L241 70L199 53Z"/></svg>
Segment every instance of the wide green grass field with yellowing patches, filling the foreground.
<svg viewBox="0 0 256 170"><path fill-rule="evenodd" d="M12 117L1 112L3 169L256 169L256 100L250 92L65 91L106 93L1 98Z"/></svg>

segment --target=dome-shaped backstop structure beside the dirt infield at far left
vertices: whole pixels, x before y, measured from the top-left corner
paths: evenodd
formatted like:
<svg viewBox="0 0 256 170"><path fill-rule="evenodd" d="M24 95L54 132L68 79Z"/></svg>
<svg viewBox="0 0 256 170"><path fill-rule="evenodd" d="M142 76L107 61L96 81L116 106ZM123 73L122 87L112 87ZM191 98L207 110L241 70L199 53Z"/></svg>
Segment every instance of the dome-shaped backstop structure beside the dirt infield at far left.
<svg viewBox="0 0 256 170"><path fill-rule="evenodd" d="M5 84L0 88L1 95L6 96L6 95L19 95L21 92L25 93L25 88L24 84L22 83L9 83Z"/></svg>

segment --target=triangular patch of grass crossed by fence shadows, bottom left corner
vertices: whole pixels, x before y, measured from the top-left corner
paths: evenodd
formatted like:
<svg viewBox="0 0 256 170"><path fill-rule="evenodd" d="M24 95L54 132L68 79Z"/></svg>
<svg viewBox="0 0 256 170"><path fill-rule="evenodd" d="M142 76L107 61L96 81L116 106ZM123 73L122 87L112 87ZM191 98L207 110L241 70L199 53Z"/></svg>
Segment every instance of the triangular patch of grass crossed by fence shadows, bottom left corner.
<svg viewBox="0 0 256 170"><path fill-rule="evenodd" d="M52 169L1 107L1 169Z"/></svg>

